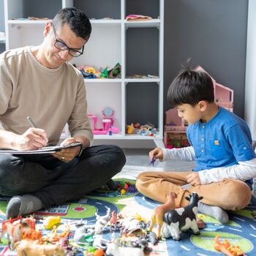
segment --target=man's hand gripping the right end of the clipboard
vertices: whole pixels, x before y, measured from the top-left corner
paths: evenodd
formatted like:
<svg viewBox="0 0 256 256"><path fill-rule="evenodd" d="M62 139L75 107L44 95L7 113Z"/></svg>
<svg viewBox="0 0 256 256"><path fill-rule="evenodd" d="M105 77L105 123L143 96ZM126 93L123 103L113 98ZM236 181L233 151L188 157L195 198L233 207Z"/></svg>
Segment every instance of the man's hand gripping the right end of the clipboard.
<svg viewBox="0 0 256 256"><path fill-rule="evenodd" d="M61 146L69 145L71 143L76 143L76 142L78 141L75 140L75 138L67 138L61 143ZM70 162L72 159L78 156L80 149L81 149L80 146L77 146L74 148L65 148L65 149L62 149L61 151L53 153L53 157L56 157L63 162Z"/></svg>

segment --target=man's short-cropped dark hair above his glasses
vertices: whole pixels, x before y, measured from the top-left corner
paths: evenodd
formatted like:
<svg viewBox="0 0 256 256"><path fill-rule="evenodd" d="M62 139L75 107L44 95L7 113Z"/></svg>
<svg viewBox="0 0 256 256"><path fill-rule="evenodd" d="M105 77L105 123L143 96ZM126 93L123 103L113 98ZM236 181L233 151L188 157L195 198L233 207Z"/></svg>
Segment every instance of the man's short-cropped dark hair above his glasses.
<svg viewBox="0 0 256 256"><path fill-rule="evenodd" d="M52 20L56 29L67 23L77 37L88 41L91 35L91 23L84 12L75 7L67 7L60 10Z"/></svg>

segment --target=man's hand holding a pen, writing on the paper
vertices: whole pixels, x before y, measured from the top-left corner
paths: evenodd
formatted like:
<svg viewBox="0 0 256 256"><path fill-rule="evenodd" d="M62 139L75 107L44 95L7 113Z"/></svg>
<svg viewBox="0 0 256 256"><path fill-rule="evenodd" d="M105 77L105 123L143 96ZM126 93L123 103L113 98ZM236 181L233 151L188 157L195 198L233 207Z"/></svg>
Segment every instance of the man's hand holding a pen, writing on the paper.
<svg viewBox="0 0 256 256"><path fill-rule="evenodd" d="M12 135L12 149L16 150L35 150L45 147L48 137L44 129L29 128L23 135Z"/></svg>

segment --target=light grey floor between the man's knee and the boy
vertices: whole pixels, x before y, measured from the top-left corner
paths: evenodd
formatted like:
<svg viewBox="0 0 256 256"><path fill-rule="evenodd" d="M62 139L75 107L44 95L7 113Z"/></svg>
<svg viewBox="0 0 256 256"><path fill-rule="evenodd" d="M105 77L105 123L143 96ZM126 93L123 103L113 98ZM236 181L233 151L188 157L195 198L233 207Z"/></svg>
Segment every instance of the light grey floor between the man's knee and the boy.
<svg viewBox="0 0 256 256"><path fill-rule="evenodd" d="M127 163L124 165L121 173L117 175L120 176L132 176L136 178L139 173L143 171L187 171L192 170L195 166L194 162L187 161L167 161L159 162L158 160L154 163L154 167L150 165L150 159L148 157L148 148L124 148L124 154L127 157Z"/></svg>

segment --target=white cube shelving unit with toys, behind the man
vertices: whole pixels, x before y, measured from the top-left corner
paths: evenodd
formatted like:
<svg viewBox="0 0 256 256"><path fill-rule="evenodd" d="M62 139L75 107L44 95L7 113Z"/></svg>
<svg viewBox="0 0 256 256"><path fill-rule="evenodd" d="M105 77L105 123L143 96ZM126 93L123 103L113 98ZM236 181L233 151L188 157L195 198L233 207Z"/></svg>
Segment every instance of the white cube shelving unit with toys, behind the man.
<svg viewBox="0 0 256 256"><path fill-rule="evenodd" d="M31 7L34 2L39 10ZM45 6L48 8L43 11ZM121 64L121 78L86 79L88 110L98 117L97 127L101 127L102 110L110 107L115 110L114 126L121 131L118 135L94 135L94 140L154 140L163 146L164 0L4 0L6 48L40 44L47 21L26 18L53 18L63 7L83 10L92 25L83 56L72 59L72 64L97 68ZM129 14L153 19L129 22L125 20ZM108 17L113 19L104 19ZM134 74L159 78L128 78ZM126 125L137 122L154 124L159 135L127 135Z"/></svg>

